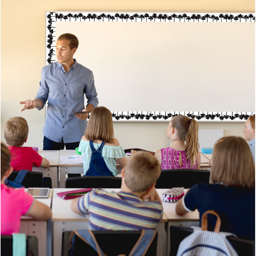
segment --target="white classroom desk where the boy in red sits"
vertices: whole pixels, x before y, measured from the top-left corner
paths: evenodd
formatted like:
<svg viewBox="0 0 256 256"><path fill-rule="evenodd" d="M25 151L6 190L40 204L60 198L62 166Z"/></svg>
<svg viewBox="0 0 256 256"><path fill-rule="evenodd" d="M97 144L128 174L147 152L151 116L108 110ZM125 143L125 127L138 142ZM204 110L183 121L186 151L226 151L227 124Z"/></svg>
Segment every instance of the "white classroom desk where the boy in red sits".
<svg viewBox="0 0 256 256"><path fill-rule="evenodd" d="M43 177L50 177L52 188L59 187L59 150L38 150L38 154L40 154L40 156L43 156L50 162L50 167L37 168L36 166L33 166L32 171L42 172Z"/></svg>

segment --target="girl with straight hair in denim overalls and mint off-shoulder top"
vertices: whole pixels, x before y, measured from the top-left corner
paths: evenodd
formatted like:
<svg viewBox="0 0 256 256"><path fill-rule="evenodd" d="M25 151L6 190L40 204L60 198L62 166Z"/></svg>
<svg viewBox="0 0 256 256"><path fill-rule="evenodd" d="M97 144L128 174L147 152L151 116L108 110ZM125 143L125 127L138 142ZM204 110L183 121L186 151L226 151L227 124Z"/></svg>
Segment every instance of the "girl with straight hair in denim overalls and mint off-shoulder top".
<svg viewBox="0 0 256 256"><path fill-rule="evenodd" d="M78 150L83 156L84 176L116 176L115 159L125 166L125 152L114 139L112 114L107 108L92 110Z"/></svg>

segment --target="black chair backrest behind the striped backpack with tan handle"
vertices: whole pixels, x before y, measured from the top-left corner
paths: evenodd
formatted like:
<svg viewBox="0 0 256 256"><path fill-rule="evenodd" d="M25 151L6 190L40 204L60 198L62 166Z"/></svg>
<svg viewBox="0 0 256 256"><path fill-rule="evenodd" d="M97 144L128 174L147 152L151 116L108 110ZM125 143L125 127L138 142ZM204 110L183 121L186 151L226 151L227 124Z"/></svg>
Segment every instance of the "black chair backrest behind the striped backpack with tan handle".
<svg viewBox="0 0 256 256"><path fill-rule="evenodd" d="M171 252L170 256L176 256L180 242L193 232L192 228L181 228L170 226ZM245 240L235 237L227 237L228 241L233 245L238 255L254 256L254 241Z"/></svg>

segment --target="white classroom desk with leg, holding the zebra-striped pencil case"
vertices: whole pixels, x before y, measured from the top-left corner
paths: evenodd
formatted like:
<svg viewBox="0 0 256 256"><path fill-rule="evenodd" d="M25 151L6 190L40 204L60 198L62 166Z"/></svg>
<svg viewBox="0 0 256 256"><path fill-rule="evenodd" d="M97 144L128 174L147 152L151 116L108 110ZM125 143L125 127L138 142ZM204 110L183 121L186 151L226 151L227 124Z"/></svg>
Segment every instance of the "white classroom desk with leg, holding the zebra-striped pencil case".
<svg viewBox="0 0 256 256"><path fill-rule="evenodd" d="M168 189L156 189L160 198L165 191ZM184 189L185 191L187 189ZM168 228L167 228L167 249L166 255L170 255L171 250L171 241L170 241L170 226L176 227L190 227L190 226L199 226L199 212L195 210L193 212L188 212L185 215L178 215L175 211L176 203L162 202L163 209L166 217L168 218Z"/></svg>

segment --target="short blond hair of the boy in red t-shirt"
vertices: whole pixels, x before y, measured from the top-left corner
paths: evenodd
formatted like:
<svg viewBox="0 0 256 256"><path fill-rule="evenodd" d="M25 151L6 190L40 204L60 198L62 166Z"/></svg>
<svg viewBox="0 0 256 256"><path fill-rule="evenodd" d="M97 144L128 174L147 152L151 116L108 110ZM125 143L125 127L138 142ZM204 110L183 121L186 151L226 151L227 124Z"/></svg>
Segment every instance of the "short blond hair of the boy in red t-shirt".
<svg viewBox="0 0 256 256"><path fill-rule="evenodd" d="M5 123L5 140L7 145L20 147L28 137L28 123L25 118L11 117Z"/></svg>

